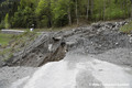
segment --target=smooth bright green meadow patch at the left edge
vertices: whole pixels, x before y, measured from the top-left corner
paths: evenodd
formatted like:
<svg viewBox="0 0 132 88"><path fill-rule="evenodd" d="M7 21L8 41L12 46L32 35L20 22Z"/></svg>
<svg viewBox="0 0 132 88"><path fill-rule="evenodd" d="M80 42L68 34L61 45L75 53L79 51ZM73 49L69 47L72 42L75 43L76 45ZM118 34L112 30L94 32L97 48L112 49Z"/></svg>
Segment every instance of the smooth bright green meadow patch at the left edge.
<svg viewBox="0 0 132 88"><path fill-rule="evenodd" d="M11 40L12 40L12 34L0 33L0 44L2 46L8 45Z"/></svg>

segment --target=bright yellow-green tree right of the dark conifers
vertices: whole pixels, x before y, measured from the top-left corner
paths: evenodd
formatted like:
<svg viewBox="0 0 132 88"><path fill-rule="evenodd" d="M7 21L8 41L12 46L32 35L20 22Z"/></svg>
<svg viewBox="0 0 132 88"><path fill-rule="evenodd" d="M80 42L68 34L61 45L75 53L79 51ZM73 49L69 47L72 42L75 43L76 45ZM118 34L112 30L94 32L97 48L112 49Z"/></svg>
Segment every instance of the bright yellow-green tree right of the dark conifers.
<svg viewBox="0 0 132 88"><path fill-rule="evenodd" d="M38 6L35 9L37 18L37 26L52 26L52 10L51 0L40 0Z"/></svg>

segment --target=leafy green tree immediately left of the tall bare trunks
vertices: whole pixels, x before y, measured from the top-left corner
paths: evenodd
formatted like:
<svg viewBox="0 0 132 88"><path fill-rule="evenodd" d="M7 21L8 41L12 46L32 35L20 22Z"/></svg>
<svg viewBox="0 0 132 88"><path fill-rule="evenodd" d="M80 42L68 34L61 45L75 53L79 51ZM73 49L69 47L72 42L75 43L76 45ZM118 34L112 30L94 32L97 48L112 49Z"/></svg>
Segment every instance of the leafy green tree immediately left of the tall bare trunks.
<svg viewBox="0 0 132 88"><path fill-rule="evenodd" d="M53 23L55 26L64 26L72 23L72 2L69 0L52 0Z"/></svg>

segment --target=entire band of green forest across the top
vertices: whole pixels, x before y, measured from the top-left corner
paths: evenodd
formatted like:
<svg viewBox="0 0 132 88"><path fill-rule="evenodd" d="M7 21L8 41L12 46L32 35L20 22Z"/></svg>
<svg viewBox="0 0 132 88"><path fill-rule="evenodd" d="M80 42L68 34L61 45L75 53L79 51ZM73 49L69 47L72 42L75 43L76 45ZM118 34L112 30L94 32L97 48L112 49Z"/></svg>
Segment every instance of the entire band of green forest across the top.
<svg viewBox="0 0 132 88"><path fill-rule="evenodd" d="M0 29L59 28L132 18L132 0L1 0Z"/></svg>

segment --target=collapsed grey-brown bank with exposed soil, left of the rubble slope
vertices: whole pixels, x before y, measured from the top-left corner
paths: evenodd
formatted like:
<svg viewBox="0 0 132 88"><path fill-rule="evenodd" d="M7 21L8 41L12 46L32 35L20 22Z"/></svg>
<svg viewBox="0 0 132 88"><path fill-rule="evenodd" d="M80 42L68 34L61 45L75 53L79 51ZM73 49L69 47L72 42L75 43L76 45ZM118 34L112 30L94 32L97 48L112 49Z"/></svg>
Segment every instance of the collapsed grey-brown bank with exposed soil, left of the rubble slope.
<svg viewBox="0 0 132 88"><path fill-rule="evenodd" d="M55 37L55 33L40 35L24 51L15 54L9 66L34 66L38 67L47 62L61 61L65 56L66 44L63 37Z"/></svg>

